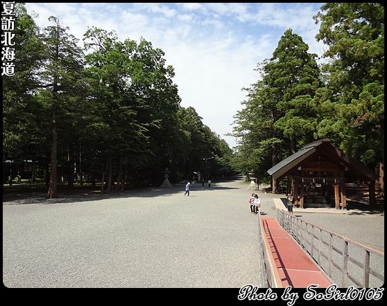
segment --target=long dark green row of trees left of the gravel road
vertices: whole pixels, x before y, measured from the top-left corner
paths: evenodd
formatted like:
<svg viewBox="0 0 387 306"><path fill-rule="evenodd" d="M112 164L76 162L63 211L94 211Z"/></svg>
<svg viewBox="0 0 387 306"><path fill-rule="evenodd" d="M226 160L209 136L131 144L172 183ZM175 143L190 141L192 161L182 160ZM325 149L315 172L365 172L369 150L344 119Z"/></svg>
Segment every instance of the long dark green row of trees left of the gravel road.
<svg viewBox="0 0 387 306"><path fill-rule="evenodd" d="M32 160L50 198L58 181L99 181L107 192L159 186L166 167L171 182L185 181L210 156L213 177L233 173L227 143L193 107L180 106L164 51L95 27L80 48L58 17L40 29L16 6L18 69L3 78L3 164Z"/></svg>

